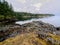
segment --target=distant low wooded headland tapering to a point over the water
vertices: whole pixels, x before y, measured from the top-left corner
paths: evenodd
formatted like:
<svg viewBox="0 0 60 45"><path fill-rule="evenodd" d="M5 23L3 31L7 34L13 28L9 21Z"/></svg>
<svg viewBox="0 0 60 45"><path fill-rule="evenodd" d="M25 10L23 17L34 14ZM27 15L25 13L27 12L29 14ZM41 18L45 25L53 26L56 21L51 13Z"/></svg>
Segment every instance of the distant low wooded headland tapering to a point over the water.
<svg viewBox="0 0 60 45"><path fill-rule="evenodd" d="M15 12L15 16L18 20L27 20L32 18L43 18L47 16L53 16L53 14L33 14L26 12Z"/></svg>

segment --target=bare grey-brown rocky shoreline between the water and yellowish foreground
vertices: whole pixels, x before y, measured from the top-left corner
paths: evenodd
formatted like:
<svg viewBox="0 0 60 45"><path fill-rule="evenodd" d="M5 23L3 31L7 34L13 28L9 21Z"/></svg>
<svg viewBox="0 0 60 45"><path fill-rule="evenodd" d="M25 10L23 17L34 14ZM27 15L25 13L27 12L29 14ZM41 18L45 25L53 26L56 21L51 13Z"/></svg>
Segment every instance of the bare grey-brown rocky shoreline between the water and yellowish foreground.
<svg viewBox="0 0 60 45"><path fill-rule="evenodd" d="M49 36L47 33L60 36L60 27L54 27L53 25L44 23L42 21L33 21L31 23L26 23L23 25L6 25L4 27L0 27L0 42L10 37L15 37L16 35L31 32L37 34L38 38L45 39ZM50 40L50 38L46 38L46 40Z"/></svg>

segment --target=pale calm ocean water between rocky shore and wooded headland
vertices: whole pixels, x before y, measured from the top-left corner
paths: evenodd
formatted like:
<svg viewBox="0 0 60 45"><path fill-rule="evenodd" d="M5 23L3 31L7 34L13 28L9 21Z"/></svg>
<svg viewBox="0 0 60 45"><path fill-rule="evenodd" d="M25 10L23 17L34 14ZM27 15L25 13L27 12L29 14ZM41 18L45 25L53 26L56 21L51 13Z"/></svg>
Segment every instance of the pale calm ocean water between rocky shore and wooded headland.
<svg viewBox="0 0 60 45"><path fill-rule="evenodd" d="M43 21L45 23L50 23L54 25L55 27L60 27L60 16L51 16L51 17L45 17L45 18L39 18L39 19L31 19L31 20L25 20L25 21L18 21L17 24L25 24L32 21Z"/></svg>

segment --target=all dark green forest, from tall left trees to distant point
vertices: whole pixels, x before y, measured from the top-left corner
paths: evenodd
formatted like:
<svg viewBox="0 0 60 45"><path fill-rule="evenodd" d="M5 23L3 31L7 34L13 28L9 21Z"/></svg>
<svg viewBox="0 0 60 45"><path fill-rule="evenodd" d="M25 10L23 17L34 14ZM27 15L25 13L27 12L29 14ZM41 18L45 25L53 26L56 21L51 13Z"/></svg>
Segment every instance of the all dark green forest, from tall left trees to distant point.
<svg viewBox="0 0 60 45"><path fill-rule="evenodd" d="M8 2L5 0L0 0L0 22L42 18L51 15L52 14L32 14L25 12L15 12L11 4L8 4Z"/></svg>

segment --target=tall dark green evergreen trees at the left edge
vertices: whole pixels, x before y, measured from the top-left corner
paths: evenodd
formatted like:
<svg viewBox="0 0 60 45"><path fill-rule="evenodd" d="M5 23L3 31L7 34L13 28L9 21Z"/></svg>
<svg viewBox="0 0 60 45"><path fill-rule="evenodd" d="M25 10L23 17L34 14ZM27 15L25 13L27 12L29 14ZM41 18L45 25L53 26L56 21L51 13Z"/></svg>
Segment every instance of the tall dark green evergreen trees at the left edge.
<svg viewBox="0 0 60 45"><path fill-rule="evenodd" d="M0 20L7 20L14 17L12 5L5 0L0 0Z"/></svg>

